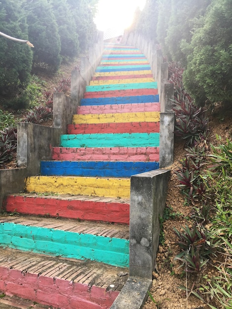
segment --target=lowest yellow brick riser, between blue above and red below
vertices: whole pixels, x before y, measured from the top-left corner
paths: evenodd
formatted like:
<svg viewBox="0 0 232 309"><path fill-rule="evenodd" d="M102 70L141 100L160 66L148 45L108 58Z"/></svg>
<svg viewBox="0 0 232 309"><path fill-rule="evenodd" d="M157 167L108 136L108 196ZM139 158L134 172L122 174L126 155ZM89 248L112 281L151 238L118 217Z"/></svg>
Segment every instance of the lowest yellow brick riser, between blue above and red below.
<svg viewBox="0 0 232 309"><path fill-rule="evenodd" d="M26 178L26 190L36 193L130 197L129 178L76 176L32 176Z"/></svg>

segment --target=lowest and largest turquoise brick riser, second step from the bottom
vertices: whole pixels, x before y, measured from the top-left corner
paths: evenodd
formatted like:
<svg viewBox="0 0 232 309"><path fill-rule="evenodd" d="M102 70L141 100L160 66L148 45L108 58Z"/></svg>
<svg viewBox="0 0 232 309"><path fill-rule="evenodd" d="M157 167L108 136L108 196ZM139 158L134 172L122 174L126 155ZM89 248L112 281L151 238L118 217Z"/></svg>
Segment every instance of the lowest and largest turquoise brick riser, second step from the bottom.
<svg viewBox="0 0 232 309"><path fill-rule="evenodd" d="M27 222L25 225L4 222L0 224L0 244L23 251L128 266L129 240L123 238L28 226Z"/></svg>

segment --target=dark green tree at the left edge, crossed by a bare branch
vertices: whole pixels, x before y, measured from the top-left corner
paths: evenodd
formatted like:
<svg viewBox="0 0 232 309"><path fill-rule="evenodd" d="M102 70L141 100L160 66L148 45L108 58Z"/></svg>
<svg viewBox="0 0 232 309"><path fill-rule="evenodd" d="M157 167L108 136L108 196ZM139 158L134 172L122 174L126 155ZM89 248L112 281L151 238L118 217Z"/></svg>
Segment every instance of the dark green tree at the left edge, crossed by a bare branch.
<svg viewBox="0 0 232 309"><path fill-rule="evenodd" d="M0 1L0 31L11 37L28 40L26 16L20 2ZM31 48L0 37L0 94L12 94L25 87L30 80L31 69Z"/></svg>

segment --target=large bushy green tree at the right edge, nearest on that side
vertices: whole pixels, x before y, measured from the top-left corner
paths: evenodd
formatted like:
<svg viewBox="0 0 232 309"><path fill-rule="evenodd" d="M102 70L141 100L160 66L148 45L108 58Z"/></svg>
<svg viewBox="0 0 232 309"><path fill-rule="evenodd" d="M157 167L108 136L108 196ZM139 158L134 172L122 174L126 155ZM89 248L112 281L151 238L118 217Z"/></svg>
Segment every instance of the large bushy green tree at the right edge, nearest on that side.
<svg viewBox="0 0 232 309"><path fill-rule="evenodd" d="M198 105L232 102L232 1L213 0L190 44L184 84Z"/></svg>

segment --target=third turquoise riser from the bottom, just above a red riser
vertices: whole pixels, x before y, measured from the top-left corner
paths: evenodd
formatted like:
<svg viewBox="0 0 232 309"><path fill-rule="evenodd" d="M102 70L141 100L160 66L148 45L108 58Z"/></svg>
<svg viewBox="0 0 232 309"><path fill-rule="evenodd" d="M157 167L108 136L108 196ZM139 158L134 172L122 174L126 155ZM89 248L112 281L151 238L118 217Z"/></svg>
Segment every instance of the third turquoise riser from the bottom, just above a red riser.
<svg viewBox="0 0 232 309"><path fill-rule="evenodd" d="M126 89L157 89L157 82L136 82L136 83L125 83L125 84L107 84L107 85L96 85L86 86L86 92L94 91L111 91L111 90L126 90Z"/></svg>

